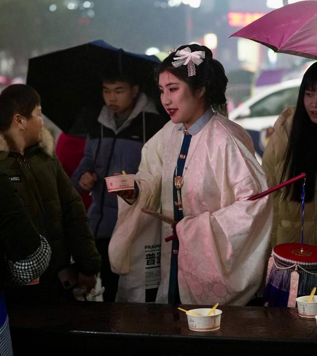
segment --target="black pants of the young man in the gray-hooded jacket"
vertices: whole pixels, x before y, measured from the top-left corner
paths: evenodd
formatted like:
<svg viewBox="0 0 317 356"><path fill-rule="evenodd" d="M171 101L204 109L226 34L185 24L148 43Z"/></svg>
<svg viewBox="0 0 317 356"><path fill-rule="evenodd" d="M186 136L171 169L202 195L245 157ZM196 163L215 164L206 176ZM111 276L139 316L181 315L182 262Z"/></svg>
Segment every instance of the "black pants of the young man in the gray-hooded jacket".
<svg viewBox="0 0 317 356"><path fill-rule="evenodd" d="M103 294L104 302L114 302L115 295L118 289L119 275L113 273L110 268L108 246L110 239L96 239L96 247L98 252L101 254L101 269L100 277L102 281L102 286L105 287L105 292Z"/></svg>

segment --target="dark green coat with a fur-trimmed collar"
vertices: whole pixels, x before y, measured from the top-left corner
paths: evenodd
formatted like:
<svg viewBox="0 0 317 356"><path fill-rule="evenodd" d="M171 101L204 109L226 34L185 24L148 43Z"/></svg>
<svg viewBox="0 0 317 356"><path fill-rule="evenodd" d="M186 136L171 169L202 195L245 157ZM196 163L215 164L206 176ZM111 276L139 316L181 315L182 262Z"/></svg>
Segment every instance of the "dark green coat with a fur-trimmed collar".
<svg viewBox="0 0 317 356"><path fill-rule="evenodd" d="M0 136L0 169L13 182L37 231L51 245L51 262L40 278L42 292L48 295L53 291L46 289L54 289L57 272L68 266L70 255L83 274L96 274L100 268L100 255L84 204L53 147L53 137L47 129L40 145L28 148L24 155L10 152Z"/></svg>

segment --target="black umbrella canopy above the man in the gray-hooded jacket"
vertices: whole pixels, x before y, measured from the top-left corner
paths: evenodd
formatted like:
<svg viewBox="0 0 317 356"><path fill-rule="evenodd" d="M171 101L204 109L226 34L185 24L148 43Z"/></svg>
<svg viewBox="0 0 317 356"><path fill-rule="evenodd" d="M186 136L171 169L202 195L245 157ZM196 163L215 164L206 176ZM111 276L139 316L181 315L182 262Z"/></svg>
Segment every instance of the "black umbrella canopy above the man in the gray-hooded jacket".
<svg viewBox="0 0 317 356"><path fill-rule="evenodd" d="M141 90L153 93L154 55L123 51L99 40L29 59L27 84L41 96L42 111L68 133L83 107L99 109L102 73L105 70L133 73Z"/></svg>

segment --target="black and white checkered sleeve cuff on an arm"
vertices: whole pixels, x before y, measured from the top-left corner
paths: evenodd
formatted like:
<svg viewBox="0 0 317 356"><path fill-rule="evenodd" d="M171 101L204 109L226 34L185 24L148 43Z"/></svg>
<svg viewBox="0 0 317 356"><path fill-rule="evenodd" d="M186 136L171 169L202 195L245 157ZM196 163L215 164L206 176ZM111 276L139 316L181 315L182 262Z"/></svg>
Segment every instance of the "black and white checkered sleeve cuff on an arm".
<svg viewBox="0 0 317 356"><path fill-rule="evenodd" d="M23 285L38 278L49 265L51 253L49 243L41 236L41 245L33 254L15 262L6 259L7 284L11 286Z"/></svg>

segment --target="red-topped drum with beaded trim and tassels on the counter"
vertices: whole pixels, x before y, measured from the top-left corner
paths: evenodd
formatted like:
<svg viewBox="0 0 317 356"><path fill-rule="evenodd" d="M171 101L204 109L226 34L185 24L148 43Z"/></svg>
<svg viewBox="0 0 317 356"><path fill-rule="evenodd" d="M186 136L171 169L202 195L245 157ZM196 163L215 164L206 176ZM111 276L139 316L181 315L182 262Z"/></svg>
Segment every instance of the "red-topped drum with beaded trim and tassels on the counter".
<svg viewBox="0 0 317 356"><path fill-rule="evenodd" d="M317 246L282 244L268 261L264 303L295 307L298 296L310 295L317 286Z"/></svg>

